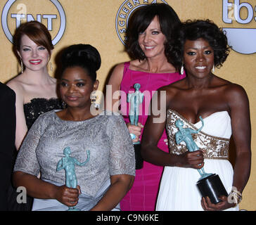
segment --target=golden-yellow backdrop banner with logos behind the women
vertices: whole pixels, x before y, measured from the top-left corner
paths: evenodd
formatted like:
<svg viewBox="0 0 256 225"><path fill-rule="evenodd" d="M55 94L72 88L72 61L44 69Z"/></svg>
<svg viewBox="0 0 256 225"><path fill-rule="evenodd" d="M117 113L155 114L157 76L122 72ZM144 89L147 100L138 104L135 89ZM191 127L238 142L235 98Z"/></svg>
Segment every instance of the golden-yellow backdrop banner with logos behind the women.
<svg viewBox="0 0 256 225"><path fill-rule="evenodd" d="M20 61L13 53L13 33L25 21L44 23L51 33L55 76L56 58L70 44L91 44L101 53L99 90L103 91L117 63L129 60L124 51L129 16L143 4L165 3L182 21L210 19L226 30L232 51L216 75L241 84L248 93L252 121L252 172L243 193L241 208L256 210L256 1L255 0L1 0L0 81L18 75Z"/></svg>

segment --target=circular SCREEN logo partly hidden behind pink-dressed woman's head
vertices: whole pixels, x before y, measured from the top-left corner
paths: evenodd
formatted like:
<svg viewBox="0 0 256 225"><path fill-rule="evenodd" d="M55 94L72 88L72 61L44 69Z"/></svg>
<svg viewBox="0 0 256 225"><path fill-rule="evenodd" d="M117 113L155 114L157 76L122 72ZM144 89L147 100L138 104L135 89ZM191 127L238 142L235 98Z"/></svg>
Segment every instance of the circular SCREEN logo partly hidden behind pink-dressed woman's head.
<svg viewBox="0 0 256 225"><path fill-rule="evenodd" d="M128 26L129 16L132 12L141 6L155 3L167 4L164 0L125 0L122 3L115 17L115 30L122 44L124 44L126 40L125 33Z"/></svg>

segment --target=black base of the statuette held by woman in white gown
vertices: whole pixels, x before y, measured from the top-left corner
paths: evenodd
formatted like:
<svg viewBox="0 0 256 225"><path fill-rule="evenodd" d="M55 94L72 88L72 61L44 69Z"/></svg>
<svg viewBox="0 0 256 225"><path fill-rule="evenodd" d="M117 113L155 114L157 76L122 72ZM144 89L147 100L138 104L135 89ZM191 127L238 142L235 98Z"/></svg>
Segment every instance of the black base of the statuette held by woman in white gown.
<svg viewBox="0 0 256 225"><path fill-rule="evenodd" d="M218 197L221 195L228 196L226 189L224 188L222 181L219 179L219 175L211 174L203 179L200 179L196 186L203 197L208 196L212 203L217 204L221 202Z"/></svg>

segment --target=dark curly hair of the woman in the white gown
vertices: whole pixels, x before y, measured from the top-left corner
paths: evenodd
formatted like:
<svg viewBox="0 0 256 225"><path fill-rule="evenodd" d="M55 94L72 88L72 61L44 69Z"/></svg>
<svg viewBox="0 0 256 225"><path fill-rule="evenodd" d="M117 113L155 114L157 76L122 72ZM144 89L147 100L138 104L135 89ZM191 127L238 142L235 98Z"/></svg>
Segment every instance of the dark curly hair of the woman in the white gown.
<svg viewBox="0 0 256 225"><path fill-rule="evenodd" d="M215 67L220 68L229 56L230 47L226 35L221 28L210 20L187 20L181 24L181 27L175 32L174 38L169 42L170 63L174 65L177 71L180 71L184 58L185 41L203 38L209 42L214 51Z"/></svg>

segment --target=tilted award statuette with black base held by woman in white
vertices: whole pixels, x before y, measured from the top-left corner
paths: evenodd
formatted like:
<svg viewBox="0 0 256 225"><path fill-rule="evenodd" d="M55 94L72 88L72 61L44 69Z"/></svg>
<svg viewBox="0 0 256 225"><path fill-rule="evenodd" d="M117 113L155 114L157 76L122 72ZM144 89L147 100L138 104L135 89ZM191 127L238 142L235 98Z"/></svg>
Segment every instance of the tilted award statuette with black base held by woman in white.
<svg viewBox="0 0 256 225"><path fill-rule="evenodd" d="M199 147L196 145L196 142L191 136L191 134L198 134L198 132L203 129L203 119L202 117L199 118L202 122L202 127L200 127L198 130L184 128L184 123L181 120L176 120L175 122L176 127L179 129L179 131L177 131L175 134L175 140L177 144L181 143L181 141L184 141L186 143L186 148L191 152L199 150ZM198 186L198 189L203 197L208 196L212 203L217 204L222 201L218 197L221 195L228 196L222 181L219 179L219 175L207 174L205 173L205 169L203 167L198 169L198 172L200 174L200 179L196 183L196 186Z"/></svg>

